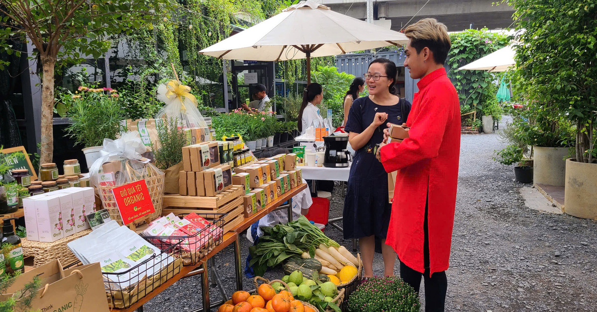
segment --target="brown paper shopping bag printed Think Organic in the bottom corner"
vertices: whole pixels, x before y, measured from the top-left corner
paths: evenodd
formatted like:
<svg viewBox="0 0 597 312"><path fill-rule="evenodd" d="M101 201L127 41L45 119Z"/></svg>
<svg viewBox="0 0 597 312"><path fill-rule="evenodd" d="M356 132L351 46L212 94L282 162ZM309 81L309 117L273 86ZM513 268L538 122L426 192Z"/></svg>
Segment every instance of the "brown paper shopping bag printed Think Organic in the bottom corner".
<svg viewBox="0 0 597 312"><path fill-rule="evenodd" d="M62 270L55 260L15 277L15 282L0 295L5 300L13 296L34 276L41 279L41 288L33 296L32 310L41 311L108 311L99 263Z"/></svg>

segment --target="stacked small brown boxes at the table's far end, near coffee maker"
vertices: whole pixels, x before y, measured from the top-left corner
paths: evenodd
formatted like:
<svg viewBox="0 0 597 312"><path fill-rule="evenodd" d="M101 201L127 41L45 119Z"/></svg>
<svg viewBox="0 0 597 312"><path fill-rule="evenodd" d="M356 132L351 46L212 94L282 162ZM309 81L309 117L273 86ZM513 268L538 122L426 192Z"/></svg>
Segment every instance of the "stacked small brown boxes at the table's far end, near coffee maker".
<svg viewBox="0 0 597 312"><path fill-rule="evenodd" d="M245 190L244 216L250 217L278 199L282 194L300 186L301 169L297 169L297 155L279 154L235 169L233 184Z"/></svg>

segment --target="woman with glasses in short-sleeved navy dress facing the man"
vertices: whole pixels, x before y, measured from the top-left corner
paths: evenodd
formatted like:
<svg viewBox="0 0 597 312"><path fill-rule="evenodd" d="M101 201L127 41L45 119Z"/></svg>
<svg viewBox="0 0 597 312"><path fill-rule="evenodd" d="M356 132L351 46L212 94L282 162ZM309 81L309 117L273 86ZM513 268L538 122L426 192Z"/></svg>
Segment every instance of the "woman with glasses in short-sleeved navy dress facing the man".
<svg viewBox="0 0 597 312"><path fill-rule="evenodd" d="M396 254L385 244L392 212L388 202L387 173L373 151L376 144L383 141L386 124L402 125L410 112L411 104L393 94L395 80L396 64L393 61L387 58L371 61L365 74L370 95L353 102L344 128L349 132L350 146L356 150L344 199L344 239L359 239L363 277L373 276L376 237L382 242L384 275L394 274Z"/></svg>

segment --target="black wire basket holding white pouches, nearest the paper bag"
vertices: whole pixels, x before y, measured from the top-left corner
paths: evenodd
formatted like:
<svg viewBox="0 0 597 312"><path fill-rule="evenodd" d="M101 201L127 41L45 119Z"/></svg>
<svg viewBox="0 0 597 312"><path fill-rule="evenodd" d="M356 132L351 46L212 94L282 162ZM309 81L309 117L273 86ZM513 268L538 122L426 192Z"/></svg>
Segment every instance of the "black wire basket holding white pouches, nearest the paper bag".
<svg viewBox="0 0 597 312"><path fill-rule="evenodd" d="M119 273L101 273L110 308L128 308L139 301L162 283L180 273L182 267L180 243L177 242L150 242L161 249L159 254L153 254L140 264ZM149 242L149 240L148 240ZM76 267L82 263L75 262L68 267Z"/></svg>

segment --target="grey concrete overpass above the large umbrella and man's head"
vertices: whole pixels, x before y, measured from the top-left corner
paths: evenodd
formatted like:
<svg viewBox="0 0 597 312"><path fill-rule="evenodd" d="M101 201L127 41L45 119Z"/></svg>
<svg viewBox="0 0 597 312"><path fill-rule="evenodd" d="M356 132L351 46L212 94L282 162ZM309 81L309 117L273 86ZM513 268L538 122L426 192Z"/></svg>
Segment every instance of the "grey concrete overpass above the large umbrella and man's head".
<svg viewBox="0 0 597 312"><path fill-rule="evenodd" d="M367 20L368 0L314 0L327 5L333 11ZM421 18L433 17L446 24L450 32L469 28L498 29L513 27L514 10L505 4L492 5L499 0L370 0L373 20L376 24L391 21L392 30L400 30L408 23ZM426 4L427 2L427 4ZM421 9L422 8L422 9ZM420 11L419 11L420 10ZM418 11L418 13L417 13ZM382 20L382 21L380 21ZM385 20L385 21L383 21Z"/></svg>

